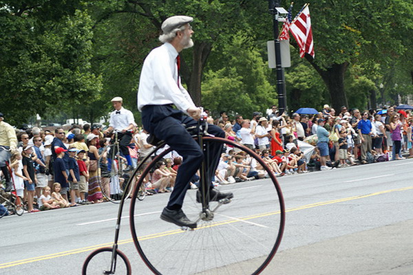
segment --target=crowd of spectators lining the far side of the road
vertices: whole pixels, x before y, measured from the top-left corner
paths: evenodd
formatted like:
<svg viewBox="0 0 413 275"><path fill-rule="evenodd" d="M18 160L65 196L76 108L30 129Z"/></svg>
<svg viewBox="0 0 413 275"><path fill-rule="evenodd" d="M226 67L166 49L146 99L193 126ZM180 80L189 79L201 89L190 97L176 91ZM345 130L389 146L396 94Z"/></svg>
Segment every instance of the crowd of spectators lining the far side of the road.
<svg viewBox="0 0 413 275"><path fill-rule="evenodd" d="M413 157L410 110L389 107L360 112L343 106L336 112L326 104L318 113L287 115L274 105L264 114L254 112L251 118L235 115L233 120L224 111L216 119L205 112L209 123L220 126L227 139L254 150L277 177L403 159L405 153ZM66 131L61 127L54 131L34 127L16 133L17 148L10 156L11 177L1 169L6 181L3 187L13 181L28 212L105 201L102 191L109 177L107 162L98 160L105 159L103 148L110 137L105 137L102 126L72 125ZM148 144L145 130L134 129L133 136L129 153L136 167L153 146ZM268 177L244 151L229 146L225 150L213 179L215 185ZM172 152L156 164L145 179L148 195L171 192L181 163L182 158ZM190 188L198 188L198 179L194 175Z"/></svg>

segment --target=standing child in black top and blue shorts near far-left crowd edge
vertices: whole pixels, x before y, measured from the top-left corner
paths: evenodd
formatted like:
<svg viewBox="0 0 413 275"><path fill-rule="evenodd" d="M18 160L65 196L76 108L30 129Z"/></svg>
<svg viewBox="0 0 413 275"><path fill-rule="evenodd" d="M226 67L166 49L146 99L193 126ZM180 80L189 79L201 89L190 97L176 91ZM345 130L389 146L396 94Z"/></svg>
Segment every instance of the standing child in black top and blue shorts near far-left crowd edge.
<svg viewBox="0 0 413 275"><path fill-rule="evenodd" d="M28 212L39 212L39 209L33 208L34 186L36 184L36 173L34 173L34 162L32 159L32 145L23 146L23 175L28 179L24 182L25 189L28 194Z"/></svg>

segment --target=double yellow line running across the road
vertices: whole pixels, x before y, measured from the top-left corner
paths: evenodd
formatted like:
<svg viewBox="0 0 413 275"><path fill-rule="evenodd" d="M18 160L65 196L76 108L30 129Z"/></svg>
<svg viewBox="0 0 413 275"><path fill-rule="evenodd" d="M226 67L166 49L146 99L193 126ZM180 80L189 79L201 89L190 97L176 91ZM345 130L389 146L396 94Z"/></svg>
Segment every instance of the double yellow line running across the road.
<svg viewBox="0 0 413 275"><path fill-rule="evenodd" d="M383 194L387 194L390 192L401 192L401 191L407 191L407 190L413 190L413 186L407 186L407 187L403 187L403 188L396 188L396 189L390 189L390 190L383 190L383 191L379 191L379 192L374 192L374 193L370 193L367 195L358 195L358 196L352 196L352 197L346 197L346 198L342 198L342 199L333 199L330 201L320 201L317 203L311 203L311 204L306 204L305 206L298 206L295 208L287 208L286 212L293 212L293 211L298 211L298 210L304 210L304 209L308 209L308 208L315 208L318 206L326 206L329 204L333 204L333 203L340 203L343 201L352 201L354 199L364 199L367 197L373 197L373 196L377 196L377 195L383 195ZM237 223L240 221L248 221L250 219L257 219L260 217L268 217L274 214L279 214L279 211L274 211L274 212L266 212L266 213L260 213L260 214L255 214L255 215L251 215L248 217L241 217L241 218L237 218L236 220L232 219L229 221L221 221L221 222L217 222L217 223L211 223L211 224L207 224L204 225L200 228L196 228L195 230L202 230L204 228L211 228L211 227L215 227L218 225L224 225L224 224L229 224L229 223ZM169 230L166 232L159 232L159 233L155 233L155 234L149 234L146 236L141 236L138 239L140 239L140 241L144 241L147 239L155 239L155 238L159 238L160 236L169 236L169 235L173 235L173 234L178 234L178 233L182 233L184 231L180 230L180 229L176 229L176 230ZM126 239L123 241L118 241L118 245L121 244L126 244L126 243L132 243L133 240L132 239ZM27 263L34 263L36 261L44 261L44 260L48 260L48 259L54 259L54 258L58 258L58 257L62 257L62 256L69 256L72 254L78 254L78 253L82 253L82 252L88 252L88 251L92 251L92 250L96 250L98 248L103 248L105 246L112 246L113 243L102 243L99 245L92 245L92 246L88 246L85 248L78 248L78 249L74 249L74 250L67 250L67 251L63 251L63 252L59 252L59 253L54 253L54 254L48 254L48 255L43 255L43 256L37 256L34 258L29 258L29 259L22 259L19 261L12 261L12 262L8 262L8 263L1 263L0 264L0 269L3 268L7 268L7 267L14 267L17 265L24 265Z"/></svg>

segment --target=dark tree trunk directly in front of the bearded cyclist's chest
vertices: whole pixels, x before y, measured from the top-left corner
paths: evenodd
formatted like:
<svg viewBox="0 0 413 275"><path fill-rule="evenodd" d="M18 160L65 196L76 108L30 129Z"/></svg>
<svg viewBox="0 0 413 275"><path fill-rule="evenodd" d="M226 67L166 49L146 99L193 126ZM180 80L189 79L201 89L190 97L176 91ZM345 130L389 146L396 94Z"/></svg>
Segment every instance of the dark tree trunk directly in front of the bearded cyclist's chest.
<svg viewBox="0 0 413 275"><path fill-rule="evenodd" d="M188 85L188 91L195 105L201 106L201 80L202 72L212 45L207 42L195 42L193 45L192 70L184 61L181 63L181 76ZM182 59L181 59L182 60Z"/></svg>

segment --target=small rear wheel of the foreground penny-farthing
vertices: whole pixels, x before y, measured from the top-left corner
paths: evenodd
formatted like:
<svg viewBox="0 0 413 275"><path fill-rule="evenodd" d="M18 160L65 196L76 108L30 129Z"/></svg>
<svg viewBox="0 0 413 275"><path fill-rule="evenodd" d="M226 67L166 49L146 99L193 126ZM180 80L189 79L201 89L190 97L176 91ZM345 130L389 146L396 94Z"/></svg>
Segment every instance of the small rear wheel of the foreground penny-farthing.
<svg viewBox="0 0 413 275"><path fill-rule="evenodd" d="M112 262L112 251L113 248L99 248L94 250L89 256L87 256L85 263L82 267L82 275L94 275L94 274L105 274L103 272L110 270L110 265ZM122 259L122 261L119 261ZM116 250L116 269L114 273L107 274L119 274L119 275L130 275L131 264L127 259L127 256Z"/></svg>

